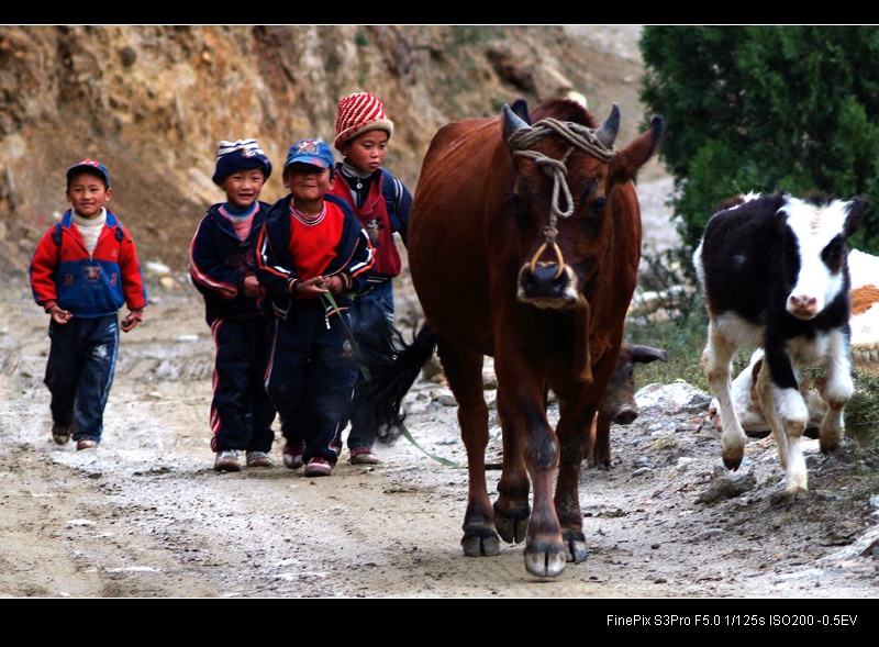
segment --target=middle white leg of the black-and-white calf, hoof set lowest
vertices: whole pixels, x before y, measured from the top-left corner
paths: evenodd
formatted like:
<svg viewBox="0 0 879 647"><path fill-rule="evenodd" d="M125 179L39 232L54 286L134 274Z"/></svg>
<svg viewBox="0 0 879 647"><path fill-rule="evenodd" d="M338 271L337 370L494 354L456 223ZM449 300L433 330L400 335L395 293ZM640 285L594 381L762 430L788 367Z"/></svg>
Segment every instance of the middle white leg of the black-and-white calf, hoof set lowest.
<svg viewBox="0 0 879 647"><path fill-rule="evenodd" d="M781 388L772 381L768 362L764 362L757 377L757 394L764 417L778 444L778 460L785 470L785 490L797 495L805 492L808 475L802 437L809 411L799 389Z"/></svg>

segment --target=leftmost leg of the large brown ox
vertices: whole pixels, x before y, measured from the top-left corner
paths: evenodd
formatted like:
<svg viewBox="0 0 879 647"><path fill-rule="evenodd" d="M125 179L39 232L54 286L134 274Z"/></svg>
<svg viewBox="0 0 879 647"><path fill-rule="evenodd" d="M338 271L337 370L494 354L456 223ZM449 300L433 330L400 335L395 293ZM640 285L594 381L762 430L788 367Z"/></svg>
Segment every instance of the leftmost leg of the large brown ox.
<svg viewBox="0 0 879 647"><path fill-rule="evenodd" d="M494 532L494 514L486 484L488 405L482 394L481 354L464 352L439 342L436 348L448 387L458 403L458 424L467 450L467 512L464 515L461 547L467 557L500 553Z"/></svg>

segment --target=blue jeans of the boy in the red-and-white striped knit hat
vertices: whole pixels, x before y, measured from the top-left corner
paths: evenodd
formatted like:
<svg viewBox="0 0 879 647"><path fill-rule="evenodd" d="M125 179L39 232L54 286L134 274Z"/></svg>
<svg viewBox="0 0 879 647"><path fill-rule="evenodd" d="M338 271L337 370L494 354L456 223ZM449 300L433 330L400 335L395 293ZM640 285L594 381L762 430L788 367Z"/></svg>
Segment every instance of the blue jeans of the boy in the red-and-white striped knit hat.
<svg viewBox="0 0 879 647"><path fill-rule="evenodd" d="M366 364L386 364L391 360L391 339L393 333L393 281L387 280L377 283L372 290L358 297L348 310L351 331L357 341L355 358ZM366 382L363 370L358 369L354 383L352 406L358 405L358 387ZM348 416L351 419L351 415ZM345 428L348 420L342 421L341 430ZM352 424L347 446L371 447L376 440L378 430L365 428L361 424Z"/></svg>

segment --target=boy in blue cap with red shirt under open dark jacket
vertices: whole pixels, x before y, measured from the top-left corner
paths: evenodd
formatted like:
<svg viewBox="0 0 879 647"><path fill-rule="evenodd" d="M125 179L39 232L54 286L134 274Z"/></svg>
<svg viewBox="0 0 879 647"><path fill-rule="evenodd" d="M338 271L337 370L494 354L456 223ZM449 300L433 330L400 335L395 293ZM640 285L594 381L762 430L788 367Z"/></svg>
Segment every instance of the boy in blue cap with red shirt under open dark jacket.
<svg viewBox="0 0 879 647"><path fill-rule="evenodd" d="M330 476L338 459L334 439L356 370L347 309L372 267L366 232L344 201L327 196L334 174L324 142L293 144L283 166L290 193L271 208L258 242L257 277L277 317L266 389L285 453L297 457L290 467L304 462L307 477Z"/></svg>

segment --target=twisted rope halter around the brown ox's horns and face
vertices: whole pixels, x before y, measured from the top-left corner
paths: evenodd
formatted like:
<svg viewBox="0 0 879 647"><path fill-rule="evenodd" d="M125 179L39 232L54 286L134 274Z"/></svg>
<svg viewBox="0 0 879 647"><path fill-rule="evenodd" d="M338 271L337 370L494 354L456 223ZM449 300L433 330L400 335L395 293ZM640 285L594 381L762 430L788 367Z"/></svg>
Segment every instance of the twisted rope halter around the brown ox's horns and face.
<svg viewBox="0 0 879 647"><path fill-rule="evenodd" d="M570 143L570 146L565 152L565 155L561 156L561 159L553 159L538 150L531 149L531 146L535 142L553 133L558 134L561 138ZM574 213L574 200L571 199L570 188L568 187L568 167L566 166L568 157L570 157L574 148L577 147L587 155L608 164L613 156L616 155L616 150L605 146L598 138L593 129L578 123L558 121L550 116L542 119L531 127L522 127L514 131L510 137L508 137L507 143L513 149L513 155L531 159L538 168L543 169L543 172L553 181L553 196L549 203L549 224L543 230L543 245L541 245L541 248L537 249L537 253L531 259L531 271L532 274L535 272L537 261L548 247L555 253L557 259L558 270L554 277L554 280L556 280L561 276L565 266L561 249L558 248L558 244L556 243L558 236L558 219L568 217ZM565 202L564 210L561 209L563 200Z"/></svg>

